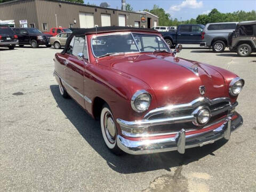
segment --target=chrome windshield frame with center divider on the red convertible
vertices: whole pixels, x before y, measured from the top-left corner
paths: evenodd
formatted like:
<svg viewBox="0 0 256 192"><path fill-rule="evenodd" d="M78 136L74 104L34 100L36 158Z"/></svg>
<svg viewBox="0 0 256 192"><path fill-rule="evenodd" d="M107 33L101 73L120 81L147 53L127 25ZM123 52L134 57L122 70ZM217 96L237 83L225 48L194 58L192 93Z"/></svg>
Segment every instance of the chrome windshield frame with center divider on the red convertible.
<svg viewBox="0 0 256 192"><path fill-rule="evenodd" d="M94 58L102 58L102 55L100 55L100 56L96 56L95 55L95 53L94 53L94 51L93 51L93 47L92 47L92 41L93 41L93 39L95 39L95 37L103 37L103 36L113 36L113 35L127 35L127 34L131 34L131 36L132 36L132 39L133 39L133 41L134 41L134 43L135 43L135 45L136 45L136 47L137 47L137 50L138 51L132 51L132 52L125 52L125 53L121 53L120 52L120 54L128 54L128 53L153 53L154 51L140 51L140 49L139 49L139 47L138 47L138 44L137 44L137 42L135 41L135 38L134 38L134 36L133 36L133 34L142 34L142 35L152 35L152 36L158 36L158 37L160 37L161 39L162 39L162 41L164 42L164 44L166 45L166 47L167 47L167 49L169 49L169 51L166 51L166 53L172 53L172 51L171 51L171 48L169 47L169 45L167 45L167 43L164 41L164 39L163 39L163 37L161 36L161 35L159 35L159 34L150 34L150 33L142 33L142 32L137 32L137 31L129 31L129 32L118 32L118 33L114 33L114 34L105 34L105 35L93 35L92 37L91 37L91 51L92 51L92 54L93 54L93 56L94 56ZM113 53L114 54L114 53ZM118 52L116 53L116 54L119 54Z"/></svg>

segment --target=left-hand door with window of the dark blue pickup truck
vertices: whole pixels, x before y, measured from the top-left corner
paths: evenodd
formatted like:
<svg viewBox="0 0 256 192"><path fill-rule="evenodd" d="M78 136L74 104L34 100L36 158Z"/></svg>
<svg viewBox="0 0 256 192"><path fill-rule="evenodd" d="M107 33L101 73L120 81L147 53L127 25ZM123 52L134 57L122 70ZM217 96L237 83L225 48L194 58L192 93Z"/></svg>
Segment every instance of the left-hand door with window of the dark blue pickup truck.
<svg viewBox="0 0 256 192"><path fill-rule="evenodd" d="M181 25L177 31L177 43L191 43L191 25Z"/></svg>

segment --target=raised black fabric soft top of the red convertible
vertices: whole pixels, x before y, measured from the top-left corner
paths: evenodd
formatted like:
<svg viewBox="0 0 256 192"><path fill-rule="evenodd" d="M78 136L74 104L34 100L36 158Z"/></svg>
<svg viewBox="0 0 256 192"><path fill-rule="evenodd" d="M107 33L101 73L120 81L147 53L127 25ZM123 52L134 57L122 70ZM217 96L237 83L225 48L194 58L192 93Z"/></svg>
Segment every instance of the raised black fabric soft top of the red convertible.
<svg viewBox="0 0 256 192"><path fill-rule="evenodd" d="M75 29L73 33L68 37L66 41L65 48L61 52L62 54L66 53L68 50L68 46L75 35L91 35L91 34L101 34L101 33L108 33L108 32L118 32L118 31L140 31L140 32L151 32L151 33L159 33L155 29L148 29L148 28L135 28L135 27L94 27L94 28L81 28Z"/></svg>

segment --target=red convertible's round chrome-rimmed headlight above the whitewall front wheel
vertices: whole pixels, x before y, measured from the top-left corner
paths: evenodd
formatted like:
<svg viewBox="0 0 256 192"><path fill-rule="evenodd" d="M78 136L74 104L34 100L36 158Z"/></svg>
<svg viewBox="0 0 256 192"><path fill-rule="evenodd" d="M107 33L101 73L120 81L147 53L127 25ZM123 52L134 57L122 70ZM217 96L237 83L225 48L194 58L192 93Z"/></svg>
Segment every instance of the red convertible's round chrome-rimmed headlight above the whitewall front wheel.
<svg viewBox="0 0 256 192"><path fill-rule="evenodd" d="M132 96L131 106L133 110L140 113L148 110L150 102L150 94L145 90L139 90Z"/></svg>

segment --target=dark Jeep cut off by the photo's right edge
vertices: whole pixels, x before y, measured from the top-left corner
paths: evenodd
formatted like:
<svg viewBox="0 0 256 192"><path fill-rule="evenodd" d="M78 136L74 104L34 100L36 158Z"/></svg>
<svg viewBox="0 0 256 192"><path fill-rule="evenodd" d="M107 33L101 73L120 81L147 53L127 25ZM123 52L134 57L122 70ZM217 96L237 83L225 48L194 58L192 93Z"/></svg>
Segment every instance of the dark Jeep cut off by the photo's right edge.
<svg viewBox="0 0 256 192"><path fill-rule="evenodd" d="M241 57L256 52L256 21L238 23L236 30L229 34L229 49Z"/></svg>

